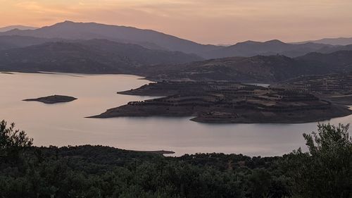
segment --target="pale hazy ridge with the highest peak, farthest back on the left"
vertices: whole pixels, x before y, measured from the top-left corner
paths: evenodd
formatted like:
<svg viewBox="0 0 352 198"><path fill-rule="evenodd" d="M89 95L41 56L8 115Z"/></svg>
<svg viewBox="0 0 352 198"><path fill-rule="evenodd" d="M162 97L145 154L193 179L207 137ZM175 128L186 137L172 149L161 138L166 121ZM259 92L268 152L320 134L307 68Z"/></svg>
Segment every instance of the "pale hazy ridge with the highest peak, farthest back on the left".
<svg viewBox="0 0 352 198"><path fill-rule="evenodd" d="M197 44L186 39L165 35L154 30L141 30L135 27L103 25L99 23L74 23L65 21L37 30L11 30L0 35L20 35L63 39L108 39L114 42L139 44L150 49L183 51L198 54L199 51L216 49L217 46Z"/></svg>

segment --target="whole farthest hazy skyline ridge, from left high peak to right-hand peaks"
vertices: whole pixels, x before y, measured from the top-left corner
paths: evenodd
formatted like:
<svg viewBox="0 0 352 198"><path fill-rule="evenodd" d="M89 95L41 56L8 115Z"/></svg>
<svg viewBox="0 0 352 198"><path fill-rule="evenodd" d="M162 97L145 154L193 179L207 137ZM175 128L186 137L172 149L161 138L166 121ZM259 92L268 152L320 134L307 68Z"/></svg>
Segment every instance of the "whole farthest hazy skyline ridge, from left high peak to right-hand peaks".
<svg viewBox="0 0 352 198"><path fill-rule="evenodd" d="M36 30L10 30L8 32L0 32L0 35L41 37L46 39L108 39L113 42L138 44L148 49L182 51L187 54L197 54L208 59L275 54L296 57L319 51L323 48L330 49L333 47L329 44L317 44L313 42L288 44L279 40L268 42L247 41L226 47L199 44L154 30L142 30L135 27L99 23L75 23L72 21L56 23L55 25L41 27Z"/></svg>

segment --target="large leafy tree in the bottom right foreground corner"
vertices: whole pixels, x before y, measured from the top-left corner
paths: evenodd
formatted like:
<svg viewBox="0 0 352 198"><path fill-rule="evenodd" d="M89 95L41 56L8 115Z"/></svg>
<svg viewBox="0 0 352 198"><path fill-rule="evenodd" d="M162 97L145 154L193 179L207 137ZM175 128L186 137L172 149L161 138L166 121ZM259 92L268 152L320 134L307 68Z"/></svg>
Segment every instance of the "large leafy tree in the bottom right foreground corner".
<svg viewBox="0 0 352 198"><path fill-rule="evenodd" d="M318 132L303 134L308 153L291 154L292 177L301 197L351 197L352 139L349 125L319 124Z"/></svg>

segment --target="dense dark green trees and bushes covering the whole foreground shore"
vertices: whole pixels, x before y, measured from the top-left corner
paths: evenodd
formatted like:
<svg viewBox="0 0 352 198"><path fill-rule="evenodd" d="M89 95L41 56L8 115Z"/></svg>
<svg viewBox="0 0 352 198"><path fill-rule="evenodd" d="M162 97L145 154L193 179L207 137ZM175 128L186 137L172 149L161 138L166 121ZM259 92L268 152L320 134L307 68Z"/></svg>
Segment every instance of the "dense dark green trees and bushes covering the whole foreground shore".
<svg viewBox="0 0 352 198"><path fill-rule="evenodd" d="M32 147L0 123L0 197L351 197L348 125L318 125L280 157L164 157L112 147Z"/></svg>

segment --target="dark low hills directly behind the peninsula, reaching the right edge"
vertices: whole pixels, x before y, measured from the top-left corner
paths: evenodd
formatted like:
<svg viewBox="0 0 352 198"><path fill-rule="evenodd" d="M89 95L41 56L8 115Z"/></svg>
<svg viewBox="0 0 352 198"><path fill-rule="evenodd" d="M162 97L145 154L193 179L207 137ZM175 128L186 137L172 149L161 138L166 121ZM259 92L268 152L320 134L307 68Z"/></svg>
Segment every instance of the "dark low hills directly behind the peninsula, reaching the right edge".
<svg viewBox="0 0 352 198"><path fill-rule="evenodd" d="M238 82L278 82L299 75L352 71L352 51L332 54L310 53L297 58L253 56L218 58L177 66L153 66L142 75L154 80L232 80Z"/></svg>

